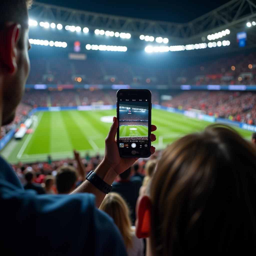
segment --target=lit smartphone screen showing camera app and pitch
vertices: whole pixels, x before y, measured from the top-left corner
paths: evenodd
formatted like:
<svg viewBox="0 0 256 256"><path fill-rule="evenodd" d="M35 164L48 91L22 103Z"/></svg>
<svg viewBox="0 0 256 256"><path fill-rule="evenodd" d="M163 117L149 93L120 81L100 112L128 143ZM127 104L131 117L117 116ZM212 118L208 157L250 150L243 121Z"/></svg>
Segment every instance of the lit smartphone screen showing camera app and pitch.
<svg viewBox="0 0 256 256"><path fill-rule="evenodd" d="M147 149L148 101L146 99L120 99L119 145L131 149Z"/></svg>

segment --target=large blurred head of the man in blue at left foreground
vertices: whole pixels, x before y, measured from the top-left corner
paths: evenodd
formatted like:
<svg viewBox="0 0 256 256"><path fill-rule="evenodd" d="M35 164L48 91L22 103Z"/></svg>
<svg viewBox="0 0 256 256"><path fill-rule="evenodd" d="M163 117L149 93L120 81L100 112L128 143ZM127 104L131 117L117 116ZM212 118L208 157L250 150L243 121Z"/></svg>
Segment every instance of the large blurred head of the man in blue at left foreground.
<svg viewBox="0 0 256 256"><path fill-rule="evenodd" d="M0 1L0 122L8 124L23 97L30 63L28 8L32 0ZM1 124L0 123L0 124Z"/></svg>

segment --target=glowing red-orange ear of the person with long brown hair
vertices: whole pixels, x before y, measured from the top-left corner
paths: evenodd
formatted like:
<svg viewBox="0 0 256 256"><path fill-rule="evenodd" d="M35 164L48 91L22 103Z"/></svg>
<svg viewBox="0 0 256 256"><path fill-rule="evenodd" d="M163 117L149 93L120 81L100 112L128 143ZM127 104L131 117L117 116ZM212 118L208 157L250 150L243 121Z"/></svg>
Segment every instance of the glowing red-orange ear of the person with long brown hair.
<svg viewBox="0 0 256 256"><path fill-rule="evenodd" d="M151 200L147 195L138 197L136 204L136 236L138 238L148 238L150 236L150 215Z"/></svg>

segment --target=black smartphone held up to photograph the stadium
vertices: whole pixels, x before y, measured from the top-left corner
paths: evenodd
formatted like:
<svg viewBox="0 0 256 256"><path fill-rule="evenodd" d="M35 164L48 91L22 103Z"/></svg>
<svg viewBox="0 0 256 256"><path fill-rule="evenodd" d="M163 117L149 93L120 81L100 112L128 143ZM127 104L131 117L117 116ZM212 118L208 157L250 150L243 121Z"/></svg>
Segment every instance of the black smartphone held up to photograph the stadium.
<svg viewBox="0 0 256 256"><path fill-rule="evenodd" d="M150 157L151 91L120 89L116 93L119 127L117 145L121 157Z"/></svg>

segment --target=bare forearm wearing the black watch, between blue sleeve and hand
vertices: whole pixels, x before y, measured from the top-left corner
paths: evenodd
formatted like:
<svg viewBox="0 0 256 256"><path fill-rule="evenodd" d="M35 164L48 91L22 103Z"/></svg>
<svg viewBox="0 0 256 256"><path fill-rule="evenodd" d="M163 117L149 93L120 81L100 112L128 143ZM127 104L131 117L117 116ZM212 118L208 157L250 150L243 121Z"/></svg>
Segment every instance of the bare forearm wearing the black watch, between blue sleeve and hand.
<svg viewBox="0 0 256 256"><path fill-rule="evenodd" d="M99 166L94 170L94 172L107 184L111 185L115 178L117 177L117 173L115 170L108 165L104 160L99 164ZM89 180L85 180L78 188L72 191L71 194L74 193L92 193L96 196L96 206L99 207L105 198L106 194L95 187Z"/></svg>

